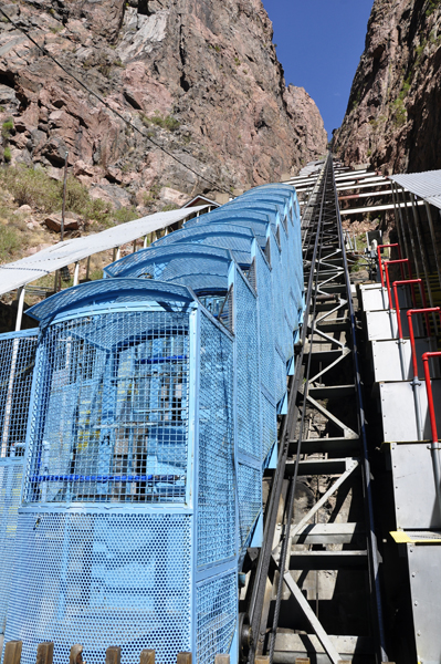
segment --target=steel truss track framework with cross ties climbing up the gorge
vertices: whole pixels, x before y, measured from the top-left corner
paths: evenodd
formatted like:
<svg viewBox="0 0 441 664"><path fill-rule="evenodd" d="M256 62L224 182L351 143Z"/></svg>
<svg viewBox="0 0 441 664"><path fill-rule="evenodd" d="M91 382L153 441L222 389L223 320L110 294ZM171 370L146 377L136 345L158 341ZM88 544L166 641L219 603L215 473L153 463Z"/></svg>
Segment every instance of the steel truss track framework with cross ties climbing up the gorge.
<svg viewBox="0 0 441 664"><path fill-rule="evenodd" d="M366 589L357 601L366 605L366 661L387 661L356 325L334 168L329 154L303 214L305 317L288 385L288 412L280 427L279 463L270 479L264 543L246 598L253 635L249 662L265 653L270 662L286 662L288 652L291 657L312 655L313 661L337 664L358 651L357 639L328 635L318 602L313 610L305 583L312 570L336 578L350 570L365 572ZM314 418L321 422L318 432L308 426ZM317 492L306 513L293 515L305 476L317 476L317 483L325 476L330 486ZM333 510L329 522L323 522L324 507L337 491L361 497L356 521L335 520ZM293 599L297 624L281 633L283 605L293 606ZM311 634L304 650L294 633L298 613Z"/></svg>

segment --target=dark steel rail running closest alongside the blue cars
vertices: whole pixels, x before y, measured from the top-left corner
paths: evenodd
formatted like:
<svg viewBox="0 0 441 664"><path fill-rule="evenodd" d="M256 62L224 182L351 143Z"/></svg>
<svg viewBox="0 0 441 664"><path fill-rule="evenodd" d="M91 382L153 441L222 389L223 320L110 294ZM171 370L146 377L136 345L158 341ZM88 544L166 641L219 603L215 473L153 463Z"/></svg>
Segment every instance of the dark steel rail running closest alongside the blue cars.
<svg viewBox="0 0 441 664"><path fill-rule="evenodd" d="M322 172L318 174L318 177L317 177L318 187L317 187L316 194L317 194L317 197L318 196L321 197L321 211L318 215L317 225L319 222L319 219L322 218L322 210L324 208L324 201L325 201L325 186L324 185L325 185L325 180L326 180L325 176L326 176L328 167L329 167L329 160L327 159ZM314 204L314 208L316 208L316 204ZM315 211L315 209L312 210L312 212L314 212L314 211ZM313 221L313 218L309 220L308 227L306 229L307 235L309 236L308 248L311 246L311 239L314 234L313 226L315 226L314 224L312 224L312 221ZM295 361L294 375L290 380L288 409L287 409L287 415L284 416L284 418L281 423L282 434L280 435L280 452L279 452L279 458L277 458L277 466L276 466L272 486L270 489L267 507L265 509L263 544L262 544L262 548L261 548L261 551L259 554L256 568L250 580L250 583L252 585L251 596L250 596L250 601L249 601L249 605L248 605L248 613L250 616L251 634L252 634L252 640L251 640L251 644L250 644L250 653L249 653L249 658L248 658L250 664L252 664L254 662L254 655L258 650L258 646L260 644L262 644L262 639L261 639L261 634L260 634L261 618L262 618L263 603L264 603L264 596L265 596L265 590L266 590L266 580L267 580L270 562L271 562L271 558L272 558L273 539L274 539L274 531L275 531L275 525L276 525L276 519L277 519L280 498L282 495L283 479L284 479L284 475L285 475L285 466L286 466L286 459L287 459L288 448L290 448L290 439L291 439L292 430L297 422L296 401L297 401L298 388L301 385L301 380L303 376L304 347L305 347L306 334L307 334L307 329L308 329L307 321L308 321L308 317L309 317L309 307L311 307L311 300L312 300L314 272L315 272L315 264L316 264L316 260L317 260L318 247L319 247L319 234L316 232L315 241L314 241L313 258L311 261L308 288L307 288L307 294L306 294L306 300L305 300L306 308L305 308L305 312L304 312L304 323L302 326L300 352L298 352L296 361Z"/></svg>

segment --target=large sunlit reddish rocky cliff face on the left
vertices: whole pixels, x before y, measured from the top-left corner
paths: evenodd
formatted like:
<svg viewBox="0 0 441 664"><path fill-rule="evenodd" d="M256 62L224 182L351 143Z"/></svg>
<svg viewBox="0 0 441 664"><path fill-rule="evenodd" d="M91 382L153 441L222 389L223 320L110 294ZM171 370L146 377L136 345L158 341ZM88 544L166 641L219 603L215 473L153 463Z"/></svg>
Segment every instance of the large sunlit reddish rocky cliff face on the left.
<svg viewBox="0 0 441 664"><path fill-rule="evenodd" d="M3 9L108 105L3 19L0 122L13 121L4 162L61 178L69 152L92 196L148 208L276 180L326 149L314 102L285 90L261 0L28 0Z"/></svg>

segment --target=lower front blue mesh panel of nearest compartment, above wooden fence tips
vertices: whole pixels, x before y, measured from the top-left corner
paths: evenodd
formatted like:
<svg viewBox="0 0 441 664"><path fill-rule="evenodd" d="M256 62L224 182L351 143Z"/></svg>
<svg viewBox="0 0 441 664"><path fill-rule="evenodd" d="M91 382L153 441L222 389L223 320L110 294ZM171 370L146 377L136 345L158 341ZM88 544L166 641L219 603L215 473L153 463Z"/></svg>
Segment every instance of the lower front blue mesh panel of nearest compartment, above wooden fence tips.
<svg viewBox="0 0 441 664"><path fill-rule="evenodd" d="M22 664L42 641L54 641L56 664L74 643L90 664L113 643L124 662L149 647L175 664L190 649L190 518L20 515L4 641L23 641Z"/></svg>

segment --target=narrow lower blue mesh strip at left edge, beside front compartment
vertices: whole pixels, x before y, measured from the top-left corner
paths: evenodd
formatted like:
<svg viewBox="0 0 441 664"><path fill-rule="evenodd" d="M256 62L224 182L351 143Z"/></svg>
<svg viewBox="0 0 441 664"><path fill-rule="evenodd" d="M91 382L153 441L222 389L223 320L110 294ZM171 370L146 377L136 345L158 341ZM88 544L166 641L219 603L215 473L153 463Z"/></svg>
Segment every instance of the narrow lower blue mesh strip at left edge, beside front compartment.
<svg viewBox="0 0 441 664"><path fill-rule="evenodd" d="M20 506L23 461L0 461L0 629L4 630L9 591L12 581L18 510Z"/></svg>

